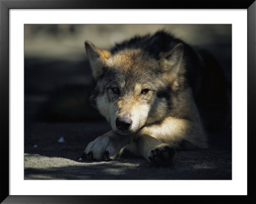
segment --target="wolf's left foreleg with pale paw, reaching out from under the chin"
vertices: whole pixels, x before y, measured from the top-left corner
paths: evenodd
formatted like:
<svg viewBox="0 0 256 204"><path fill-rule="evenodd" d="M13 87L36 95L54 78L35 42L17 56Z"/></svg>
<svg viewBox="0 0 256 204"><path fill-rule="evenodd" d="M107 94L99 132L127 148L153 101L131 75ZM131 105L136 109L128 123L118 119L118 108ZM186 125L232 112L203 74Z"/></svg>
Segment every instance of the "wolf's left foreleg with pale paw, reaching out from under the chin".
<svg viewBox="0 0 256 204"><path fill-rule="evenodd" d="M123 136L113 130L90 142L83 153L83 159L105 160L115 159L122 149L131 143L134 136Z"/></svg>

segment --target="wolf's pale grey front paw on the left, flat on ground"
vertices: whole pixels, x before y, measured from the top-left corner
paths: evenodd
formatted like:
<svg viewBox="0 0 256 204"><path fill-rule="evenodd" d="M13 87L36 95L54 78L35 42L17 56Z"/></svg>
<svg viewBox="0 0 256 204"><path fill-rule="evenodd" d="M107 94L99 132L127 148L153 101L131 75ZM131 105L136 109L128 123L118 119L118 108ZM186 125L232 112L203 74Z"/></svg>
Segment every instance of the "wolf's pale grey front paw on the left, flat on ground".
<svg viewBox="0 0 256 204"><path fill-rule="evenodd" d="M109 161L115 159L119 152L120 148L114 146L113 139L105 134L97 137L88 144L84 150L82 159Z"/></svg>

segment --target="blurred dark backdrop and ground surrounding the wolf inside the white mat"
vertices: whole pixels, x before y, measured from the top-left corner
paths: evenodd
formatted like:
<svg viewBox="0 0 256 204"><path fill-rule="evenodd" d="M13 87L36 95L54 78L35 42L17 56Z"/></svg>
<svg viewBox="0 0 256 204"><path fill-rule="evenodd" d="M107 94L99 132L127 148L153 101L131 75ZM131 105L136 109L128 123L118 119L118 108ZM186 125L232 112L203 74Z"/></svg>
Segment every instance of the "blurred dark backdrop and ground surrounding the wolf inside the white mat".
<svg viewBox="0 0 256 204"><path fill-rule="evenodd" d="M110 130L88 104L93 79L84 41L108 49L116 42L159 29L210 51L231 86L231 25L25 25L26 179L231 178L231 127L209 134L209 150L180 152L172 168L156 170L143 159L130 157L112 162L78 161L88 142ZM58 143L60 137L65 143Z"/></svg>

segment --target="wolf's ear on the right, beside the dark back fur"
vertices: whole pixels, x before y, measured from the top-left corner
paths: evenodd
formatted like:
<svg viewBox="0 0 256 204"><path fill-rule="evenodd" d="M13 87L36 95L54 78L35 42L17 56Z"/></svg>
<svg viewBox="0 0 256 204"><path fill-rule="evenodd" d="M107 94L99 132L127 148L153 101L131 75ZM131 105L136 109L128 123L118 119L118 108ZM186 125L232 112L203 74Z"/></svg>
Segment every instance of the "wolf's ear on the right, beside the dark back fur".
<svg viewBox="0 0 256 204"><path fill-rule="evenodd" d="M184 53L184 45L178 43L168 52L162 52L159 54L160 57L160 69L162 72L172 72L172 74L178 74L181 61Z"/></svg>

